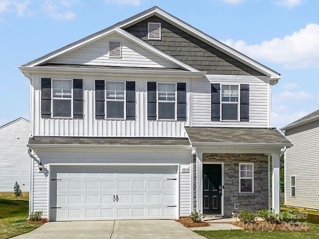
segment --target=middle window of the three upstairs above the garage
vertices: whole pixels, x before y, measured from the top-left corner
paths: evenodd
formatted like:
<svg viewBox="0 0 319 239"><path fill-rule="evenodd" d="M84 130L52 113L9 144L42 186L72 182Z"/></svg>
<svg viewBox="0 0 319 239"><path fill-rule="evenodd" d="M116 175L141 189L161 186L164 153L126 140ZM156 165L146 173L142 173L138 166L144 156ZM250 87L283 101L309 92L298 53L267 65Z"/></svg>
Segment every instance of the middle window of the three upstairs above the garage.
<svg viewBox="0 0 319 239"><path fill-rule="evenodd" d="M124 82L106 83L106 117L124 119Z"/></svg>

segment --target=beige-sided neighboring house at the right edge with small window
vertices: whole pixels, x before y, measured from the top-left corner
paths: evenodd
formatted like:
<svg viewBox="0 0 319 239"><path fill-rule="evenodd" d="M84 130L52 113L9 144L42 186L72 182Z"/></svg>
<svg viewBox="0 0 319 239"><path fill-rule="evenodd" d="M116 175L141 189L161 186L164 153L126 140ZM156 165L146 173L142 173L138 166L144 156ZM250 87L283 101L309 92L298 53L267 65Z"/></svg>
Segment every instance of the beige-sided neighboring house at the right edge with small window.
<svg viewBox="0 0 319 239"><path fill-rule="evenodd" d="M319 110L281 130L294 144L285 152L285 204L319 210Z"/></svg>

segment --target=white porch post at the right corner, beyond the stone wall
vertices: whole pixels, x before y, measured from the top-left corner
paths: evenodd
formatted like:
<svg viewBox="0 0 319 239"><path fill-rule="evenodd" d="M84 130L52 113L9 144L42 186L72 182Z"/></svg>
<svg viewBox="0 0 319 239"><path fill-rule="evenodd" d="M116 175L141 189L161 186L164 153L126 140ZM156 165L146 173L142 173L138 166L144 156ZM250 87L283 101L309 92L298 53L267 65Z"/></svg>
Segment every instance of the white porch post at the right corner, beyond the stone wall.
<svg viewBox="0 0 319 239"><path fill-rule="evenodd" d="M272 173L272 207L275 213L280 212L280 160L279 153L273 153Z"/></svg>

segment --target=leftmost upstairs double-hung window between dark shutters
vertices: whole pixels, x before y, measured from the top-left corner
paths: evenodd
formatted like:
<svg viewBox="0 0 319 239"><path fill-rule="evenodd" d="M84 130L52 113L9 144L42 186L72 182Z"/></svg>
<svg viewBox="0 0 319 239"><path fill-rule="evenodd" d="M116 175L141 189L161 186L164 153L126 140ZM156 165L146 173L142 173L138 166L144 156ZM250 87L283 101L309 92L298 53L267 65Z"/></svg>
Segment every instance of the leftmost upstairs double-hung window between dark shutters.
<svg viewBox="0 0 319 239"><path fill-rule="evenodd" d="M71 117L72 80L52 81L52 117Z"/></svg>

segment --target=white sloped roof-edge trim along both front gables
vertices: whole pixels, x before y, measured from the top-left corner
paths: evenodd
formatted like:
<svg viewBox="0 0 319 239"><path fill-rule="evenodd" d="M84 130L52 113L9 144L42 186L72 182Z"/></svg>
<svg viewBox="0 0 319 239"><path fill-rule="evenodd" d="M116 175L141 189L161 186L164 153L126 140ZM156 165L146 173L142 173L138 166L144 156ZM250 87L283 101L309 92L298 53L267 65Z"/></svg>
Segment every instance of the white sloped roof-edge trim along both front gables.
<svg viewBox="0 0 319 239"><path fill-rule="evenodd" d="M183 69L187 69L187 70L192 71L192 72L198 72L198 70L196 68L174 58L173 56L170 56L170 55L164 53L163 51L159 50L158 48L152 46L151 44L139 39L138 37L135 37L134 35L132 35L129 32L122 29L124 27L129 27L130 25L133 25L139 21L142 21L142 20L144 20L152 15L157 15L158 17L166 20L167 22L184 30L185 32L197 37L198 39L206 42L207 44L210 44L211 46L217 48L218 50L224 52L225 54L227 54L227 55L239 60L240 62L247 64L248 66L252 67L253 69L256 69L257 71L269 76L271 79L271 84L276 84L278 82L278 80L281 78L281 75L278 72L260 64L259 62L247 57L246 55L244 55L244 54L234 50L233 48L223 44L222 42L212 38L211 36L205 34L204 32L192 27L191 25L185 23L184 21L165 12L164 10L160 9L158 6L154 6L150 9L145 10L145 11L143 11L135 16L132 16L124 21L118 22L118 23L116 23L116 24L114 24L106 29L103 29L97 33L94 33L94 34L87 36L85 38L82 38L74 43L71 43L65 47L62 47L56 51L53 51L45 56L42 56L38 59L35 59L27 64L24 64L22 67L33 67L33 66L37 66L39 64L45 64L50 59L59 57L62 54L65 54L66 52L69 52L71 50L74 50L76 48L84 46L86 44L89 44L97 39L104 37L105 35L107 35L110 32L117 31L117 32L125 35L126 37L129 37L130 39L134 40L137 44L143 45L143 47L149 49L150 51L153 51L155 54L160 54L165 59L170 60L170 61L174 62L175 64L181 66ZM25 70L21 67L19 69Z"/></svg>

